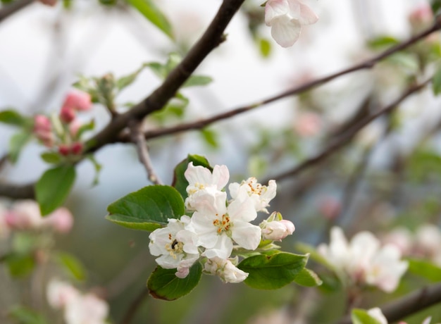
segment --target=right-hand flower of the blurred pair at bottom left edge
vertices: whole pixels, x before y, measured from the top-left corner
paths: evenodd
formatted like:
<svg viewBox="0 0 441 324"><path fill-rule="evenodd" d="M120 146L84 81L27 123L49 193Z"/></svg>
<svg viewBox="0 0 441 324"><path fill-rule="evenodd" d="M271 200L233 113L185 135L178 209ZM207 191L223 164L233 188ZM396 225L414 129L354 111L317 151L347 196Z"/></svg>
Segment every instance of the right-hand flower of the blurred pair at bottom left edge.
<svg viewBox="0 0 441 324"><path fill-rule="evenodd" d="M85 294L70 301L64 311L66 324L104 324L108 304L94 294Z"/></svg>

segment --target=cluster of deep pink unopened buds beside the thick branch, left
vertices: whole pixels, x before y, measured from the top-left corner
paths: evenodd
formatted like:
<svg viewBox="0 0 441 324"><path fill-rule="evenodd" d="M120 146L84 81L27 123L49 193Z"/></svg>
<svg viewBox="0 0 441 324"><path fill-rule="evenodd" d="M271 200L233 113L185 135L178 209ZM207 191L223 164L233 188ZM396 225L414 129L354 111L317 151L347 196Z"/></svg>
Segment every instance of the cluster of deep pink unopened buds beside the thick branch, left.
<svg viewBox="0 0 441 324"><path fill-rule="evenodd" d="M34 135L44 146L57 149L62 156L79 155L83 144L79 132L81 123L77 120L77 111L92 108L89 94L78 90L67 94L57 118L44 115L34 117Z"/></svg>

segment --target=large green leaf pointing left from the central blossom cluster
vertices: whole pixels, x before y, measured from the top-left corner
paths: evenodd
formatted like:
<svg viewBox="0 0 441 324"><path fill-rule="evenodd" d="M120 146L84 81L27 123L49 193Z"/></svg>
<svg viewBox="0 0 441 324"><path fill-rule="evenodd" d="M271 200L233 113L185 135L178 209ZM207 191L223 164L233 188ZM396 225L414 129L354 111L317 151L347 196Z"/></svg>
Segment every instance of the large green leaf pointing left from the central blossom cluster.
<svg viewBox="0 0 441 324"><path fill-rule="evenodd" d="M179 192L170 186L154 185L139 189L107 207L106 218L126 228L153 231L180 218L185 206Z"/></svg>

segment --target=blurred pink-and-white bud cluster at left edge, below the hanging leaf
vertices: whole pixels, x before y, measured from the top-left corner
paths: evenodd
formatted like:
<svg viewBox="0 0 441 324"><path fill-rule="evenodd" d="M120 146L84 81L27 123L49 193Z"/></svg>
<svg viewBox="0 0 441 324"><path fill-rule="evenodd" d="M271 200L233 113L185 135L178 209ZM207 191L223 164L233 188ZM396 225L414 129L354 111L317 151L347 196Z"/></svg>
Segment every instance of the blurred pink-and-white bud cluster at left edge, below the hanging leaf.
<svg viewBox="0 0 441 324"><path fill-rule="evenodd" d="M24 200L15 202L11 208L0 210L0 237L8 237L11 231L44 230L69 232L73 216L67 208L61 207L46 217L42 217L37 202Z"/></svg>

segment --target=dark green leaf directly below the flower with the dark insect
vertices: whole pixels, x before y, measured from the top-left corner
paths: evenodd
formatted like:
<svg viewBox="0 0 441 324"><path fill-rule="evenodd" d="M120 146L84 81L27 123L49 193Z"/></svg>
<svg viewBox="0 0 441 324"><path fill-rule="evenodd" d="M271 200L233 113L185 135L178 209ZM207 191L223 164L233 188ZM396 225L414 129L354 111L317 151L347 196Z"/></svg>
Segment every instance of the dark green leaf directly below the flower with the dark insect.
<svg viewBox="0 0 441 324"><path fill-rule="evenodd" d="M185 278L175 275L176 269L163 269L156 267L147 281L147 288L151 296L163 300L175 300L190 293L201 280L202 266L196 262L190 268L190 273Z"/></svg>

